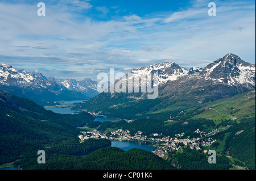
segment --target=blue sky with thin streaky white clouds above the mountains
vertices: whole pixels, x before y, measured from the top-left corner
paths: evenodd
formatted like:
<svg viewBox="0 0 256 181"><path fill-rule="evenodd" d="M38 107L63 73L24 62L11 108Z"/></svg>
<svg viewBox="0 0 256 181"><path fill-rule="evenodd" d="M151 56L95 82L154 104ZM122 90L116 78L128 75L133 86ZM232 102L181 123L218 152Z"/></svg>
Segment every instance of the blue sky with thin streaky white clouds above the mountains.
<svg viewBox="0 0 256 181"><path fill-rule="evenodd" d="M204 68L228 53L255 64L254 0L0 0L0 64L47 77L96 80L166 61Z"/></svg>

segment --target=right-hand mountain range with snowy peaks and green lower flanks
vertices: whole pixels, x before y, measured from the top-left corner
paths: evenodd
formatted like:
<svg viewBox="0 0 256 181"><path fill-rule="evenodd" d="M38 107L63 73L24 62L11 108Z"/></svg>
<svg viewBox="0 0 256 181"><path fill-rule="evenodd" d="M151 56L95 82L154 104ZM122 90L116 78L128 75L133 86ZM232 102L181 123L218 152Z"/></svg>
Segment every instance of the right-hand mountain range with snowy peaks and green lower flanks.
<svg viewBox="0 0 256 181"><path fill-rule="evenodd" d="M255 64L232 53L204 69L186 70L175 63L164 62L134 69L131 73L136 77L156 71L159 75L156 99L147 99L147 92L102 92L75 110L101 112L125 119L159 115L168 118L184 110L197 110L203 103L255 89Z"/></svg>

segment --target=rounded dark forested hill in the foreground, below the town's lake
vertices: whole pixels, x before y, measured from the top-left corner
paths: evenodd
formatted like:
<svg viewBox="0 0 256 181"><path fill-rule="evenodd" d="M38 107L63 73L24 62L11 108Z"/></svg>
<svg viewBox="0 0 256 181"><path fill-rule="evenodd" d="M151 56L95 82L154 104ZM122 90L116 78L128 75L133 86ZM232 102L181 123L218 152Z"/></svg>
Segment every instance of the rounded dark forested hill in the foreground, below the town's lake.
<svg viewBox="0 0 256 181"><path fill-rule="evenodd" d="M47 159L46 164L34 162L22 165L25 169L74 169L74 170L162 170L174 169L167 161L157 155L141 149L123 151L108 147L94 151L86 157L58 155Z"/></svg>

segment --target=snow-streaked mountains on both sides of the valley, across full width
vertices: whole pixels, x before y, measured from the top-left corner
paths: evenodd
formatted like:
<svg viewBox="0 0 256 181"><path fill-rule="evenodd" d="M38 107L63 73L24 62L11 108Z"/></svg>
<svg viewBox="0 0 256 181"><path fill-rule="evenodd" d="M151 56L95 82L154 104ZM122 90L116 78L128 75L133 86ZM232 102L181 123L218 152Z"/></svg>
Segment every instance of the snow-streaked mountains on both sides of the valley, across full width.
<svg viewBox="0 0 256 181"><path fill-rule="evenodd" d="M190 106L198 107L201 103L212 102L255 88L255 64L247 63L232 53L212 62L204 69L194 67L187 70L174 62L164 62L133 69L130 73L130 79L158 73L156 81L159 86L158 98L147 100L147 92L102 92L98 95L98 82L90 78L76 81L45 77L39 71L15 70L11 65L6 64L0 64L0 89L31 99L40 105L53 104L53 101L58 100L83 100L94 97L75 109L111 112L111 114L123 108L128 112L136 109L133 112L136 117L145 112L160 113L182 110ZM122 79L115 81L115 84L121 82ZM141 85L135 84L133 89L136 86ZM176 108L172 106L174 104ZM143 109L144 106L147 110Z"/></svg>

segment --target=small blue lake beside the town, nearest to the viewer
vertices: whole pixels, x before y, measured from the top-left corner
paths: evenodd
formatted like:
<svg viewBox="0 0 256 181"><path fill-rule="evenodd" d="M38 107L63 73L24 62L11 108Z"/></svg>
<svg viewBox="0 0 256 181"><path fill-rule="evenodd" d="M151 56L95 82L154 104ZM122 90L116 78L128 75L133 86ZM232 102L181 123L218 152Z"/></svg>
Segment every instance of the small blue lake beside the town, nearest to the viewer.
<svg viewBox="0 0 256 181"><path fill-rule="evenodd" d="M154 146L148 146L146 141L112 141L111 146L117 147L122 150L130 150L133 148L143 149L146 151L152 151L156 149Z"/></svg>

